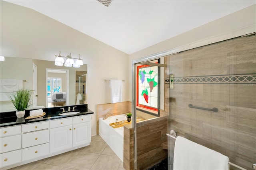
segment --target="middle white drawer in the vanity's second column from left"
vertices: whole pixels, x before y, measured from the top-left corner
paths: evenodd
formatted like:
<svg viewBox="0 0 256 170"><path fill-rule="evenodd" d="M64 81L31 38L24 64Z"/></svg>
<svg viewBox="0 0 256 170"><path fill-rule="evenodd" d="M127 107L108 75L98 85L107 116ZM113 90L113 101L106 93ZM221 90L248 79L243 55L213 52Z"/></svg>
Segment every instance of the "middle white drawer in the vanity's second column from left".
<svg viewBox="0 0 256 170"><path fill-rule="evenodd" d="M49 142L49 129L22 134L22 148Z"/></svg>

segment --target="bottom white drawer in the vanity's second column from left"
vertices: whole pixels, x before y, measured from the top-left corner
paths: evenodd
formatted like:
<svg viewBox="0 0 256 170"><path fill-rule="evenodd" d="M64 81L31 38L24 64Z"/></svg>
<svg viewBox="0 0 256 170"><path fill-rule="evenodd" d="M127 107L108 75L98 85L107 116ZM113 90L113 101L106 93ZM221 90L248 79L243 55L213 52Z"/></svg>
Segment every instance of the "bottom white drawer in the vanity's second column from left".
<svg viewBox="0 0 256 170"><path fill-rule="evenodd" d="M22 161L49 154L49 143L22 149Z"/></svg>

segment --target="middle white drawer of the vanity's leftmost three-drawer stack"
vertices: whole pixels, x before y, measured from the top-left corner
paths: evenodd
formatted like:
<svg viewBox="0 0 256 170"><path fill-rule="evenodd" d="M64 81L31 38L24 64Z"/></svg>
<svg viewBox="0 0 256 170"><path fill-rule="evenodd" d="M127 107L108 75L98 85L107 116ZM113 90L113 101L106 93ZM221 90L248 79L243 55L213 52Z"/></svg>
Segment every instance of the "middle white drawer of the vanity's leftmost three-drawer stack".
<svg viewBox="0 0 256 170"><path fill-rule="evenodd" d="M9 152L21 149L21 134L0 138L0 152Z"/></svg>

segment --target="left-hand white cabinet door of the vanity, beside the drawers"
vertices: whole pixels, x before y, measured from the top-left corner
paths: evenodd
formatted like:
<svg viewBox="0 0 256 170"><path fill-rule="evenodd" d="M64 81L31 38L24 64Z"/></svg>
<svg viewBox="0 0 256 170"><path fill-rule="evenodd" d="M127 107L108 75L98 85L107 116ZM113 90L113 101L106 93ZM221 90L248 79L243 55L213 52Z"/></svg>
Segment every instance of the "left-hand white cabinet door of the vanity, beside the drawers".
<svg viewBox="0 0 256 170"><path fill-rule="evenodd" d="M72 125L50 129L50 153L72 147Z"/></svg>

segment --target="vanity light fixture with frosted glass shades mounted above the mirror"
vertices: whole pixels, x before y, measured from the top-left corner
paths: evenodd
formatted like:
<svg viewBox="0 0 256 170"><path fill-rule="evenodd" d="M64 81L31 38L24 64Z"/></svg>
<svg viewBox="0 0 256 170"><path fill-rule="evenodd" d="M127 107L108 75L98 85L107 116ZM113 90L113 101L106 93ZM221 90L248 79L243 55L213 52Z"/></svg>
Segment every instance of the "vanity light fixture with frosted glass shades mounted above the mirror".
<svg viewBox="0 0 256 170"><path fill-rule="evenodd" d="M84 65L84 62L83 60L80 58L80 54L79 54L79 58L72 58L71 57L71 53L64 57L64 56L61 56L60 54L59 55L55 55L55 65L57 66L62 66L63 63L64 63L64 66L66 67L75 67L75 68L79 68L80 65ZM65 61L66 59L66 61ZM74 59L76 59L76 62L74 61Z"/></svg>

